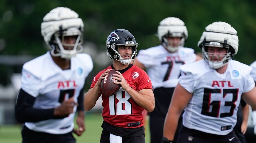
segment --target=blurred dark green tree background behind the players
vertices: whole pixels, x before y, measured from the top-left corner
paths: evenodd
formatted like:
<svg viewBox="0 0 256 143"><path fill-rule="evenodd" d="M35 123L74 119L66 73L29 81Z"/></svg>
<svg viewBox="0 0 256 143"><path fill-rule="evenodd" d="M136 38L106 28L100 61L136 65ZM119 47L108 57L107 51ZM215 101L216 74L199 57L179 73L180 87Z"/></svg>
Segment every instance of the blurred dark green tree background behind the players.
<svg viewBox="0 0 256 143"><path fill-rule="evenodd" d="M146 49L159 44L157 26L166 17L185 22L189 34L185 47L196 52L201 51L197 42L204 28L225 21L238 32L239 51L234 59L247 65L256 60L255 0L0 0L0 136L1 126L17 124L14 105L22 65L48 50L40 25L43 17L59 6L74 10L84 22L84 53L90 54L94 63L86 90L93 77L112 63L105 46L110 32L127 29L139 43L138 50ZM99 103L91 112L100 111Z"/></svg>

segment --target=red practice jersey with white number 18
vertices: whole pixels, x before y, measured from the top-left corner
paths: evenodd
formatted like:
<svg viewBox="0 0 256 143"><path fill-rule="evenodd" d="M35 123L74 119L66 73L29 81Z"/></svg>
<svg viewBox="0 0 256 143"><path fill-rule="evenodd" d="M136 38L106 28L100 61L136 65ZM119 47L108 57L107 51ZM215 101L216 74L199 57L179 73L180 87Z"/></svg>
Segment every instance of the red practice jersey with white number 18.
<svg viewBox="0 0 256 143"><path fill-rule="evenodd" d="M91 88L93 88L98 81L100 75L107 69L113 69L112 66L99 72L93 79ZM128 66L124 70L119 70L125 78L129 86L140 91L142 89L152 89L152 84L147 73L139 67L132 65ZM143 126L143 115L144 110L139 106L131 96L122 89L114 94L113 96L107 97L102 93L102 116L103 120L111 125L123 127L123 128L136 128ZM140 125L130 127L130 123L140 122Z"/></svg>

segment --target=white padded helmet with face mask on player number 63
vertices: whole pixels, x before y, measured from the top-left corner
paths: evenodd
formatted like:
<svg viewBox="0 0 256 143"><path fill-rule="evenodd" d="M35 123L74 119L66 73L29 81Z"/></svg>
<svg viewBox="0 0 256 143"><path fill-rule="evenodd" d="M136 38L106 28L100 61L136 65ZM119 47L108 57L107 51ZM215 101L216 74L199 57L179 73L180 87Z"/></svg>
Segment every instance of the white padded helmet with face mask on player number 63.
<svg viewBox="0 0 256 143"><path fill-rule="evenodd" d="M213 69L218 69L228 63L229 60L238 51L238 36L237 31L226 22L214 22L205 28L199 42L198 47L202 48L204 60ZM208 47L227 48L226 54L214 54L215 57L223 57L220 61L213 61L209 59Z"/></svg>

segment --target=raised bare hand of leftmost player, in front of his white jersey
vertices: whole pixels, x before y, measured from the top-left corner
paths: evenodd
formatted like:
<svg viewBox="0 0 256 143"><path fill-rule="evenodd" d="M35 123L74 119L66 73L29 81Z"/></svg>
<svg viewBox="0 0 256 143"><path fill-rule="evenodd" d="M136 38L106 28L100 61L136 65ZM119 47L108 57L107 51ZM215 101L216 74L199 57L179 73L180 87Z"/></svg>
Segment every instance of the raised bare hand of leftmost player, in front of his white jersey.
<svg viewBox="0 0 256 143"><path fill-rule="evenodd" d="M74 101L74 96L69 98L68 100L64 100L61 105L54 109L55 116L68 116L70 113L74 112L74 106L77 103Z"/></svg>

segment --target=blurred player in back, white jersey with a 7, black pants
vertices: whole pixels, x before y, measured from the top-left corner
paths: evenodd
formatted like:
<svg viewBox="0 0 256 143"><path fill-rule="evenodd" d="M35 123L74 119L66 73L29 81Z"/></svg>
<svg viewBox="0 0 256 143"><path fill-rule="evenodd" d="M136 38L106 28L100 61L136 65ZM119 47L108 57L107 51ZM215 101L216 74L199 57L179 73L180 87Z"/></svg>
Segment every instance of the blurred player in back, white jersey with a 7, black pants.
<svg viewBox="0 0 256 143"><path fill-rule="evenodd" d="M194 49L183 47L188 31L179 18L168 17L160 21L157 35L161 44L140 50L134 63L147 70L154 89L155 109L149 113L151 143L160 143L163 137L164 120L178 83L180 66L202 59L194 54ZM182 117L179 125L182 125ZM179 130L174 141L178 133Z"/></svg>

